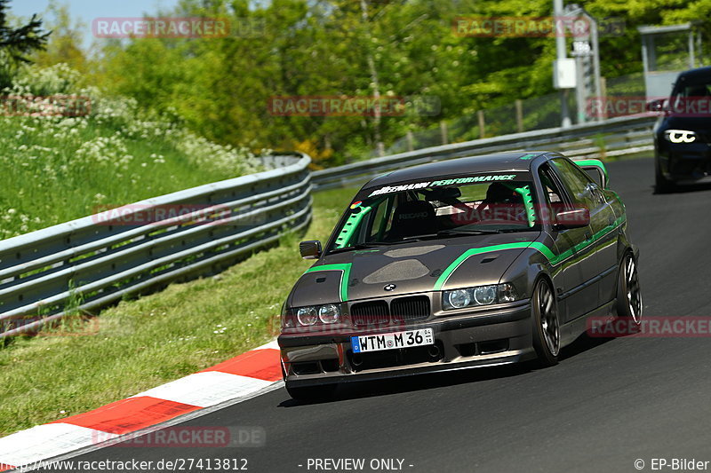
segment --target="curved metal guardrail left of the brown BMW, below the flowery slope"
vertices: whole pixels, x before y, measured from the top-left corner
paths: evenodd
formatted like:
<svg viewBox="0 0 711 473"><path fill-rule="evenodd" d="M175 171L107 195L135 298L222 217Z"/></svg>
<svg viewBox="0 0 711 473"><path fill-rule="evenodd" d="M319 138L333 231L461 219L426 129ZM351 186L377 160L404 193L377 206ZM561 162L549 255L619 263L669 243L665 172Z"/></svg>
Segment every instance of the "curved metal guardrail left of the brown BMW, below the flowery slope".
<svg viewBox="0 0 711 473"><path fill-rule="evenodd" d="M270 157L275 169L0 241L0 337L217 272L308 225L309 162Z"/></svg>

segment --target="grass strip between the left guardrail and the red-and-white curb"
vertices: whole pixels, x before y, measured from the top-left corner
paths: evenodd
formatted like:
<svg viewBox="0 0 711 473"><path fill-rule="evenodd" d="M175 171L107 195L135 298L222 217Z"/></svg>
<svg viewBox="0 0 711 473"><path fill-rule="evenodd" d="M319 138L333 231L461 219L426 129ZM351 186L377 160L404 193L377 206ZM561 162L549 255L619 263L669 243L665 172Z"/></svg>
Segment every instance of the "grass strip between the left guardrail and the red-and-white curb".
<svg viewBox="0 0 711 473"><path fill-rule="evenodd" d="M315 195L304 239L325 240L356 189ZM80 414L235 357L276 335L281 305L313 262L297 235L219 276L173 284L0 349L0 435Z"/></svg>

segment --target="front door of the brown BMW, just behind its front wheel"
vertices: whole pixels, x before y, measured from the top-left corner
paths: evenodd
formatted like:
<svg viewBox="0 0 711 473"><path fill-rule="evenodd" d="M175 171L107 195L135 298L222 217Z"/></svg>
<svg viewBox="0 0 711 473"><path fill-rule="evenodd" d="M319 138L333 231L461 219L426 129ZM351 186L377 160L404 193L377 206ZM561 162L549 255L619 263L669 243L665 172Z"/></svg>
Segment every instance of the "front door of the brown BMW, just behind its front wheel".
<svg viewBox="0 0 711 473"><path fill-rule="evenodd" d="M567 176L558 172L555 163L544 164L539 170L541 184L547 189L547 200L552 207L552 215L564 209L588 208L590 202L575 198L570 186L563 183ZM561 322L567 323L577 319L597 304L599 288L595 284L597 274L594 248L584 244L592 239L593 230L590 225L578 228L553 228L552 238L557 250L556 272L562 275L558 280L563 285L555 284L559 300L564 304Z"/></svg>

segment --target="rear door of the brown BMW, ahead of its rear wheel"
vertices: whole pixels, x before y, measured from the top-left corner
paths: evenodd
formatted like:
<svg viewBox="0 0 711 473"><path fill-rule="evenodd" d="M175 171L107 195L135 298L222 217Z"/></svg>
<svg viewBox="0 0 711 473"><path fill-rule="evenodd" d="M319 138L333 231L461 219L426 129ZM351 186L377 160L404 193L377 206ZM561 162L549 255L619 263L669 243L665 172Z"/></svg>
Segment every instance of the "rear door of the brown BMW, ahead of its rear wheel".
<svg viewBox="0 0 711 473"><path fill-rule="evenodd" d="M592 303L589 310L593 310L610 300L611 280L614 280L617 267L617 233L611 232L615 225L615 213L603 192L584 170L565 158L555 158L552 162L573 204L590 211L590 233L586 235L585 244L589 247L587 276L591 280L585 284L590 286L587 291L590 297L595 295L595 299L589 301Z"/></svg>

